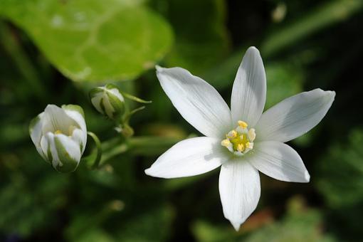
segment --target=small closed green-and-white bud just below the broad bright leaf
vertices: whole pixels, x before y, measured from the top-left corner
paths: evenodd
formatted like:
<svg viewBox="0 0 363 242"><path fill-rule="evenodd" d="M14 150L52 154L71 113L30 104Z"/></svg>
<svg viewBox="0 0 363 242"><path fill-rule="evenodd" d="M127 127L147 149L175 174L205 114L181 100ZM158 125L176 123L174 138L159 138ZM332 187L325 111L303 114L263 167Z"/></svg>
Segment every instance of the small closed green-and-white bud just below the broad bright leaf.
<svg viewBox="0 0 363 242"><path fill-rule="evenodd" d="M90 90L90 100L98 112L116 120L125 112L125 100L117 86L107 84Z"/></svg>

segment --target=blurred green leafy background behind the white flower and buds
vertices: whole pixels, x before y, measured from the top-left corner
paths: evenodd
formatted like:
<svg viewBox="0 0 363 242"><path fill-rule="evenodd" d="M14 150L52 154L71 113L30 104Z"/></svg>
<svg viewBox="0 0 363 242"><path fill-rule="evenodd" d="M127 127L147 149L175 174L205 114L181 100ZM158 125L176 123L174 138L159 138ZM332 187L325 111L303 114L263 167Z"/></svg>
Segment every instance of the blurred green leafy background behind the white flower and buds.
<svg viewBox="0 0 363 242"><path fill-rule="evenodd" d="M363 1L1 0L1 241L361 241ZM154 65L181 66L229 102L248 46L261 51L266 108L303 90L335 90L324 120L289 142L309 184L261 174L258 208L236 232L223 218L219 169L184 179L144 169L196 133L162 92ZM152 100L124 142L90 105L112 82ZM59 174L36 152L29 121L48 103L78 104L107 162ZM139 107L128 102L130 107ZM86 155L92 152L88 141Z"/></svg>

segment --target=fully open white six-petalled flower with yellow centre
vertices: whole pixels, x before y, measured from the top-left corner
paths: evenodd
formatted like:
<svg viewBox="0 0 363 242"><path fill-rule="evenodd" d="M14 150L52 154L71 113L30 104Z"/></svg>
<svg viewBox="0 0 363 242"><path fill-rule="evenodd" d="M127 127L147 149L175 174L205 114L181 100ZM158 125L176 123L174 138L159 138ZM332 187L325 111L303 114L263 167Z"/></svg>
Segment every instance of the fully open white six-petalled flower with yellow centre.
<svg viewBox="0 0 363 242"><path fill-rule="evenodd" d="M332 105L335 92L300 93L263 112L265 70L254 47L248 48L238 68L231 110L211 85L187 70L157 66L157 78L181 116L206 137L175 144L146 174L189 177L221 166L223 214L236 230L258 204L258 171L281 181L310 180L299 154L284 142L315 127Z"/></svg>

